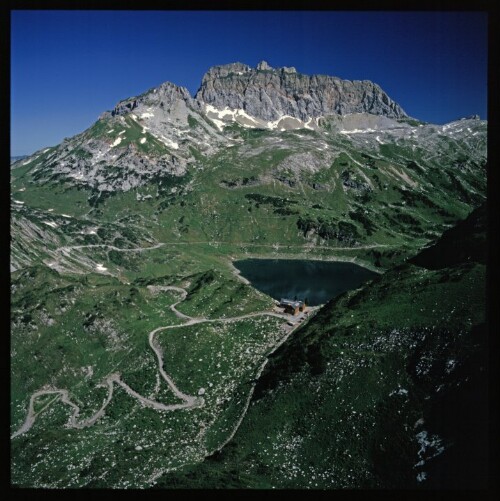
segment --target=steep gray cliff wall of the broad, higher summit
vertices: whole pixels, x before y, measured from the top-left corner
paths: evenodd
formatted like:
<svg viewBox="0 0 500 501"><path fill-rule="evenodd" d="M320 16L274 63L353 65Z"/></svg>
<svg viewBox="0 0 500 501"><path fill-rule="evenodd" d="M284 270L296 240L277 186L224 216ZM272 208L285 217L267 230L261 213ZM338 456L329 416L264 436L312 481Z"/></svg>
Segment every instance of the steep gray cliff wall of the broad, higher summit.
<svg viewBox="0 0 500 501"><path fill-rule="evenodd" d="M243 109L274 121L283 115L307 120L324 115L370 113L391 118L407 114L377 84L326 75L302 75L295 68L273 69L265 61L214 66L205 74L196 100L217 109Z"/></svg>

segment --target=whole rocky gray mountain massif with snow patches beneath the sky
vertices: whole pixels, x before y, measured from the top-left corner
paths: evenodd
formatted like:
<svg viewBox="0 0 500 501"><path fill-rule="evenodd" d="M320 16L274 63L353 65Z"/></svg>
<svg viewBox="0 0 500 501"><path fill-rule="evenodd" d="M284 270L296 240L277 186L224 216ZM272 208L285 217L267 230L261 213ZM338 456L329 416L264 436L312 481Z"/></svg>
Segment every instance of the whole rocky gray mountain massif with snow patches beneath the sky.
<svg viewBox="0 0 500 501"><path fill-rule="evenodd" d="M437 127L406 117L370 81L307 76L293 67L273 68L266 61L254 68L236 62L211 67L194 98L185 87L162 83L119 101L86 131L13 167L36 165L38 182L64 179L92 189L98 197L165 176L180 178L228 147L245 150L244 128L275 131L278 134L262 138L262 144L293 149L302 136L279 137L280 132L314 130L314 147L328 161L339 138L360 149L402 139L412 141L412 148L425 143L426 149L434 150L436 133L474 143L486 130L486 123L477 119ZM481 149L477 155L482 156ZM311 162L312 170L315 164Z"/></svg>

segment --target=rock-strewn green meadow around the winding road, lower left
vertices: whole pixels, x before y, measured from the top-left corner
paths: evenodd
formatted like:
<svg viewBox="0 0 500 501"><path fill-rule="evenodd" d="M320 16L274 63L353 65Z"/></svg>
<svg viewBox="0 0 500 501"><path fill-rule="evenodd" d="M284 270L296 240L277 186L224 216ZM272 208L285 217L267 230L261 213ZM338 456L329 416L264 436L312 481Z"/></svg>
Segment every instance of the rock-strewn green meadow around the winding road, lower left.
<svg viewBox="0 0 500 501"><path fill-rule="evenodd" d="M45 266L12 274L11 433L40 389L68 390L80 407L78 421L90 418L107 398L103 383L110 374L157 402L181 403L160 379L148 343L148 334L161 326L173 326L156 337L165 371L181 391L197 395L204 388L206 402L193 410L159 411L115 384L103 417L74 429L67 426L71 408L57 395L41 396L33 427L12 440L14 485L146 487L159 472L198 462L229 437L249 381L284 334L283 321L260 316L184 327L170 308L180 294L158 289L168 285L187 288L184 310L196 317L237 317L273 304L212 271L143 276L128 284L100 274L63 276Z"/></svg>

